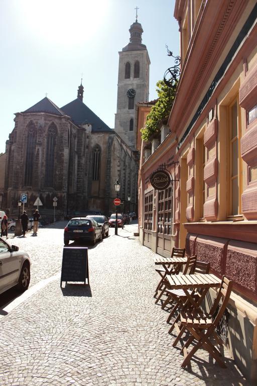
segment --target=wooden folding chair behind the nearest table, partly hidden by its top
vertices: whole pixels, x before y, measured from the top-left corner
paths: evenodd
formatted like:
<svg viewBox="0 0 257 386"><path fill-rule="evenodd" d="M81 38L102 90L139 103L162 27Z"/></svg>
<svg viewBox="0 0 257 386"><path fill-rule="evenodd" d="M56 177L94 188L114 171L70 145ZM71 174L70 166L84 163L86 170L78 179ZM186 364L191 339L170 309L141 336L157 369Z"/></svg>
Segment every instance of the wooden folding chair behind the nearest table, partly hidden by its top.
<svg viewBox="0 0 257 386"><path fill-rule="evenodd" d="M191 272L191 273L209 273L209 270L210 270L210 263L197 260L195 263L194 272ZM190 294L194 299L196 299L197 297L201 296L201 290L194 291L194 292L190 291ZM163 309L166 307L167 304L175 303L175 305L171 309L170 315L167 319L167 323L169 323L177 309L180 309L180 310L184 309L186 301L187 301L187 296L186 296L185 291L183 289L167 289L166 295L167 295L167 299L164 302L164 304L162 305ZM172 325L169 329L169 334L174 329L175 324L178 322L178 320L179 320L179 314L177 315L174 322L172 323Z"/></svg>

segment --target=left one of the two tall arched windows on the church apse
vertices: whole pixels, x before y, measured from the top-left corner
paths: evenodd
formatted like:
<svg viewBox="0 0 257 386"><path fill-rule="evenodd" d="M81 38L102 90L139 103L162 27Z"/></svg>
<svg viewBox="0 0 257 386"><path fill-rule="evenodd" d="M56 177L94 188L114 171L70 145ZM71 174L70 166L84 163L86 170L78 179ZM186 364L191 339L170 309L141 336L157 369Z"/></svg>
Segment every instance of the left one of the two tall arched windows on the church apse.
<svg viewBox="0 0 257 386"><path fill-rule="evenodd" d="M27 149L26 149L26 161L25 161L25 185L32 185L32 171L34 163L34 155L36 151L36 139L37 139L37 130L36 126L32 121L27 126L28 136L27 136Z"/></svg>

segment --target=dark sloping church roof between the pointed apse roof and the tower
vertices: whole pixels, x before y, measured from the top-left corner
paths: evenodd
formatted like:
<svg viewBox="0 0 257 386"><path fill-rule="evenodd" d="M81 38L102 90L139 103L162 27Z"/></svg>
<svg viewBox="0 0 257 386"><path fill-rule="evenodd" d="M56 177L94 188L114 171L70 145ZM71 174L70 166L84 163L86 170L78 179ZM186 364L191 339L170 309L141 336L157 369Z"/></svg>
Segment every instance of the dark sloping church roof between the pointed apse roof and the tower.
<svg viewBox="0 0 257 386"><path fill-rule="evenodd" d="M61 110L77 125L92 125L92 133L113 131L78 98L63 106Z"/></svg>

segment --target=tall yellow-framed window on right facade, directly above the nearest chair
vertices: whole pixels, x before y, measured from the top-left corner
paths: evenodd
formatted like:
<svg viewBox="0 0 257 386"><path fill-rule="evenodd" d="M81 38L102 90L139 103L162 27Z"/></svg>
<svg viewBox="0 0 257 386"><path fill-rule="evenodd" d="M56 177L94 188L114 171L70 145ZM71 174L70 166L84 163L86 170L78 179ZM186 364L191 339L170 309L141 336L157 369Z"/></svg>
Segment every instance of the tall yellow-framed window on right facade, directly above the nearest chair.
<svg viewBox="0 0 257 386"><path fill-rule="evenodd" d="M240 214L240 200L239 200L239 116L238 103L234 100L229 106L229 215L236 216Z"/></svg>

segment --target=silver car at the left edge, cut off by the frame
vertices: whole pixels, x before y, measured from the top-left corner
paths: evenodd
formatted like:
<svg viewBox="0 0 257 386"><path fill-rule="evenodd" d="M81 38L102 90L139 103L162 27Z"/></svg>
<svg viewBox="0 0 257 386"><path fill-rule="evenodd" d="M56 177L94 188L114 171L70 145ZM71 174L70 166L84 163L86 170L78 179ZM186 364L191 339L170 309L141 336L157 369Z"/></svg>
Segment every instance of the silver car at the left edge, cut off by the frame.
<svg viewBox="0 0 257 386"><path fill-rule="evenodd" d="M30 257L0 237L0 294L17 286L24 292L30 284Z"/></svg>

